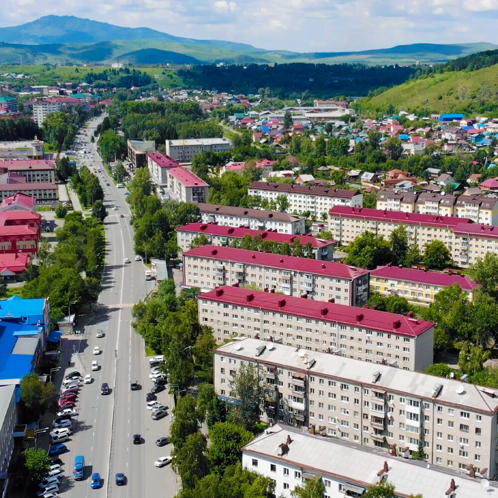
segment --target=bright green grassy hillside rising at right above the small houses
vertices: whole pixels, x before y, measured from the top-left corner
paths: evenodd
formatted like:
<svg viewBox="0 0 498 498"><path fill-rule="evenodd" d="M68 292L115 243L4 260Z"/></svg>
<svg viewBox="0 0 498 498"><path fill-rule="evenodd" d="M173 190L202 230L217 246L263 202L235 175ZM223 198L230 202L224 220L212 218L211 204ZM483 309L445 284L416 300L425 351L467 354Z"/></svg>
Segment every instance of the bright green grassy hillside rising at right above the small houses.
<svg viewBox="0 0 498 498"><path fill-rule="evenodd" d="M355 103L373 114L385 112L498 115L498 64L477 71L449 71L408 81Z"/></svg>

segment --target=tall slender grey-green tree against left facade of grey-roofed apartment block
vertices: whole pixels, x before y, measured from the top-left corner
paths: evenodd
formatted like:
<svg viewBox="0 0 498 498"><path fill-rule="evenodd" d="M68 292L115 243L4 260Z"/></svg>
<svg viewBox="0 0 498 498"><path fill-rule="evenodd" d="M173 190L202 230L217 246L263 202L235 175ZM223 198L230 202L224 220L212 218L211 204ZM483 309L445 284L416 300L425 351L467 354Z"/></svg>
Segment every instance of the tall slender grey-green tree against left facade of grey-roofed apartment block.
<svg viewBox="0 0 498 498"><path fill-rule="evenodd" d="M257 367L246 363L232 377L232 391L239 403L234 406L231 415L236 423L252 431L259 422L259 402L265 392Z"/></svg>

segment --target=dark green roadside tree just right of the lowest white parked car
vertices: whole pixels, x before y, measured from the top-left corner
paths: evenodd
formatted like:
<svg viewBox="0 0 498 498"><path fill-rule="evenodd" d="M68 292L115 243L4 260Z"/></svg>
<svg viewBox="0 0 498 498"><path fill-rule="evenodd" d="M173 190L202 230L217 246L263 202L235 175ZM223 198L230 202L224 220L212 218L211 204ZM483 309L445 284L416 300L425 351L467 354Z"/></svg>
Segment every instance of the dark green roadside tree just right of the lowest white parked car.
<svg viewBox="0 0 498 498"><path fill-rule="evenodd" d="M200 431L188 435L181 447L173 448L171 463L178 470L183 488L193 489L208 474L206 448L206 438Z"/></svg>

